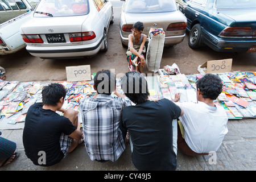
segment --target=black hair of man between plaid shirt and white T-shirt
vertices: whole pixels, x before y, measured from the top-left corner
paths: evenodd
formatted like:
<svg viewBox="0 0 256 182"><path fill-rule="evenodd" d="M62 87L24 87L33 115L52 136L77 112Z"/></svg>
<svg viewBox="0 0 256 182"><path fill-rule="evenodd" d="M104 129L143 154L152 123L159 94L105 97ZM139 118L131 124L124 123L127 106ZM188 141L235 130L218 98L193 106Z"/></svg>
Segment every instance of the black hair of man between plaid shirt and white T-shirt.
<svg viewBox="0 0 256 182"><path fill-rule="evenodd" d="M122 77L122 90L134 104L143 104L149 96L147 80L139 72L125 73Z"/></svg>

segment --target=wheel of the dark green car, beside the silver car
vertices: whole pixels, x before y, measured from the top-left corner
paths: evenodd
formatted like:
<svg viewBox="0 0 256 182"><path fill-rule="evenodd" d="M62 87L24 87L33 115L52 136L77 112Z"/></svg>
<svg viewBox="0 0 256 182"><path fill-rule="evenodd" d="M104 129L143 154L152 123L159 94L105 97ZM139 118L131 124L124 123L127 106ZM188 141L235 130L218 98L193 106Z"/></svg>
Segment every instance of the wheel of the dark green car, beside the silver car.
<svg viewBox="0 0 256 182"><path fill-rule="evenodd" d="M192 49L200 47L200 39L201 39L201 26L200 24L195 24L192 30L188 35L188 46Z"/></svg>

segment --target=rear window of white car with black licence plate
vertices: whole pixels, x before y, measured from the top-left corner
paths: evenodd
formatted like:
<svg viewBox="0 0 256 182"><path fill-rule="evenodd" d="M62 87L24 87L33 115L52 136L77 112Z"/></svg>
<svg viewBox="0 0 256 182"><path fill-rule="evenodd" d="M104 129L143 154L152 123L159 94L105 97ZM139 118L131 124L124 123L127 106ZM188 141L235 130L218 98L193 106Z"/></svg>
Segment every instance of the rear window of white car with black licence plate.
<svg viewBox="0 0 256 182"><path fill-rule="evenodd" d="M34 16L76 16L88 13L88 0L44 0L39 2Z"/></svg>

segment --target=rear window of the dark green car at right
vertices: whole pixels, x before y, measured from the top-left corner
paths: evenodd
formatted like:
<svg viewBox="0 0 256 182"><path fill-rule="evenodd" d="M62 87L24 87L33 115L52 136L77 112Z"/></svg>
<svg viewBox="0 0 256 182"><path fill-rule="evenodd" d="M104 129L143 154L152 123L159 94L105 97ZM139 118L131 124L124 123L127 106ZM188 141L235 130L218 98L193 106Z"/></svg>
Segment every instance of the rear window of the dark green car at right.
<svg viewBox="0 0 256 182"><path fill-rule="evenodd" d="M216 0L216 9L256 9L255 0Z"/></svg>

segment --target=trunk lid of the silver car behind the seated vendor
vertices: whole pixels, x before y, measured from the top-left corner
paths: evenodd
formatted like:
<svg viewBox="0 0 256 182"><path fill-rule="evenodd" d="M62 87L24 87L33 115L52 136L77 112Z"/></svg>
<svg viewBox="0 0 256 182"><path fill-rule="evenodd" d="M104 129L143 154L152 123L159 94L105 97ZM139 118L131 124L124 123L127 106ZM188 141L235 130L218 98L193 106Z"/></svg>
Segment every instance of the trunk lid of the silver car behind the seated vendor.
<svg viewBox="0 0 256 182"><path fill-rule="evenodd" d="M171 23L187 22L185 16L180 11L170 13L125 13L125 21L126 24L134 24L138 21L143 22L144 32L149 31L152 27L166 30ZM156 23L156 26L154 26L154 23Z"/></svg>

